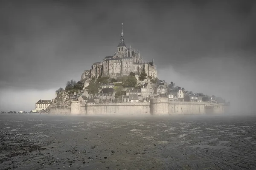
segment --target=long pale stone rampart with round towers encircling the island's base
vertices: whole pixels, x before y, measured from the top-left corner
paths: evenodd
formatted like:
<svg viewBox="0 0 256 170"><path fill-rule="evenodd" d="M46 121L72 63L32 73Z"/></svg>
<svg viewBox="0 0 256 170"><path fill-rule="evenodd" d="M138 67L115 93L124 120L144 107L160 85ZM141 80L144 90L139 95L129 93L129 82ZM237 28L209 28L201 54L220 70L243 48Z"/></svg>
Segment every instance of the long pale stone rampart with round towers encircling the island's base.
<svg viewBox="0 0 256 170"><path fill-rule="evenodd" d="M50 113L72 115L189 115L227 112L228 106L207 102L169 102L168 98L153 98L142 103L71 102L71 107L52 106Z"/></svg>

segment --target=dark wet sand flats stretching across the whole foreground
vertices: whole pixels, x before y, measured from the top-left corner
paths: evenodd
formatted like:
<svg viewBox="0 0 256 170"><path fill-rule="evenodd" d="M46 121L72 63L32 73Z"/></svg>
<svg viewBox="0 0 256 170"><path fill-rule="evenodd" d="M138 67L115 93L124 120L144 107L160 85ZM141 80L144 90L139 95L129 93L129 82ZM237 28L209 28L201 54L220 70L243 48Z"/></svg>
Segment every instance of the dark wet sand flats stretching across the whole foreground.
<svg viewBox="0 0 256 170"><path fill-rule="evenodd" d="M1 170L256 170L256 116L0 115Z"/></svg>

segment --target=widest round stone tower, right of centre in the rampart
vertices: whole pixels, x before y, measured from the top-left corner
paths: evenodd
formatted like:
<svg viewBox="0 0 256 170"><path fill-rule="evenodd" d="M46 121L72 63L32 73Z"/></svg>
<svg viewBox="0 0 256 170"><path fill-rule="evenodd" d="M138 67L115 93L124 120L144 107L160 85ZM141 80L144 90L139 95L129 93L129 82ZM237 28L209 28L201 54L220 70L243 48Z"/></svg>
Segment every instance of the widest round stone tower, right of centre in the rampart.
<svg viewBox="0 0 256 170"><path fill-rule="evenodd" d="M151 115L169 115L168 98L152 98L150 99L150 114Z"/></svg>

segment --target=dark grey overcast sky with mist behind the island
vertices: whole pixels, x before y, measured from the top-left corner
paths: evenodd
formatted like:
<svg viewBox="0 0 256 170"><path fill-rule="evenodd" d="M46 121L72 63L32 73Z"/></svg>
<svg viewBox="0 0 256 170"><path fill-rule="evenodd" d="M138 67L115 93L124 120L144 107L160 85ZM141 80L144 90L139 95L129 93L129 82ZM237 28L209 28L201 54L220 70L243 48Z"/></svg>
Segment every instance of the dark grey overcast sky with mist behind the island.
<svg viewBox="0 0 256 170"><path fill-rule="evenodd" d="M0 110L29 111L127 46L160 79L256 107L256 1L6 0L0 3ZM238 105L238 103L241 105Z"/></svg>

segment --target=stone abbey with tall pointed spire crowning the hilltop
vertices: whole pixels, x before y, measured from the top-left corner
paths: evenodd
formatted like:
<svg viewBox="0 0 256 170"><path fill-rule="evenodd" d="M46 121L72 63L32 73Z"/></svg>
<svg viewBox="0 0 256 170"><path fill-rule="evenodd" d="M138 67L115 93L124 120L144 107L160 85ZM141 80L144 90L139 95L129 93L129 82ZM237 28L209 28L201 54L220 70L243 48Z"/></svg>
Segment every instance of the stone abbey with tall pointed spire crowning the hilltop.
<svg viewBox="0 0 256 170"><path fill-rule="evenodd" d="M148 77L157 78L157 66L152 62L145 62L140 56L140 51L127 48L124 41L123 30L121 41L117 45L116 52L112 56L107 56L102 62L95 62L90 70L85 70L81 76L81 81L97 79L99 77L122 77L128 76L131 72L140 75L143 71ZM136 76L138 79L138 76Z"/></svg>

